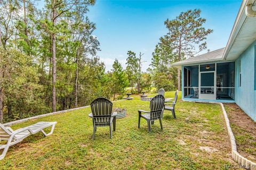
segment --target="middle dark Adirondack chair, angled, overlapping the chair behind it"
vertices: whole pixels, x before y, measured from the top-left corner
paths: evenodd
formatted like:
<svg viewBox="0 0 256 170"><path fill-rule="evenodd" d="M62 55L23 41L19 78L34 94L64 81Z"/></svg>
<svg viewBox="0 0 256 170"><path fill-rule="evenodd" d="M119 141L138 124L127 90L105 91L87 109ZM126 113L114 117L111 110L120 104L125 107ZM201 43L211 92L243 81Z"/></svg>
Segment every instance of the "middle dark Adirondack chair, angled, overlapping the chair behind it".
<svg viewBox="0 0 256 170"><path fill-rule="evenodd" d="M148 123L148 132L151 132L151 124L154 124L155 120L159 119L161 129L163 129L162 125L162 111L164 108L164 96L162 94L156 95L153 99L150 101L150 111L145 110L138 110L139 112L139 123L138 127L140 128L140 118L147 120ZM146 114L141 115L141 112L144 112Z"/></svg>

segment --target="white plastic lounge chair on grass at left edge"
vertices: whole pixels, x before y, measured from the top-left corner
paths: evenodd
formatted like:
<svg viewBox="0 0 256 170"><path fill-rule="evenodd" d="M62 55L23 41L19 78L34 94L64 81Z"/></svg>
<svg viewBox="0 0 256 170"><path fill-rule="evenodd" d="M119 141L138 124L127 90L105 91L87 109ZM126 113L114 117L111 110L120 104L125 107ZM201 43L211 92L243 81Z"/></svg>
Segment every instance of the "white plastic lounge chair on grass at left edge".
<svg viewBox="0 0 256 170"><path fill-rule="evenodd" d="M3 149L2 155L0 155L0 160L5 157L5 154L11 145L19 143L27 136L37 132L42 132L44 136L49 136L53 133L56 124L57 122L38 122L34 125L19 128L15 131L13 131L11 127L4 127L3 124L0 124L0 141L7 141L6 144L0 144L0 150ZM49 126L52 126L51 132L46 134L43 129Z"/></svg>

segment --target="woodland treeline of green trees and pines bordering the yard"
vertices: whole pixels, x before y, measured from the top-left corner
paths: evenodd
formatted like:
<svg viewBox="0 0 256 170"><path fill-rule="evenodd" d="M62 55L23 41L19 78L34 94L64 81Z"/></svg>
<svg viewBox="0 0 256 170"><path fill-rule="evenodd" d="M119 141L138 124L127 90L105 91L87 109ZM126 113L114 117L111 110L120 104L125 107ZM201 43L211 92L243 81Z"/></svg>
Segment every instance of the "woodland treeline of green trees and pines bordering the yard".
<svg viewBox="0 0 256 170"><path fill-rule="evenodd" d="M200 10L167 19L150 68L141 71L142 53L127 52L126 68L116 59L105 70L87 17L94 0L0 1L0 121L9 122L46 112L89 104L98 96L123 98L151 87L180 88L180 72L170 64L205 50L211 29L202 27Z"/></svg>

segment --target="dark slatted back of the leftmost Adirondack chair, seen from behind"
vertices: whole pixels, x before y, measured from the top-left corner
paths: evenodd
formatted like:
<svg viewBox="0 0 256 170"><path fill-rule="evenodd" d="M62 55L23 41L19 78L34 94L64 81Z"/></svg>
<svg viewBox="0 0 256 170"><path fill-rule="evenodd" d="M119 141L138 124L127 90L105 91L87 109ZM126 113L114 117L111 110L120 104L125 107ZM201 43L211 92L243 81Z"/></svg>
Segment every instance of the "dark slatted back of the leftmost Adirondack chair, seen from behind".
<svg viewBox="0 0 256 170"><path fill-rule="evenodd" d="M91 103L91 110L95 124L110 123L113 103L106 98L97 98Z"/></svg>

